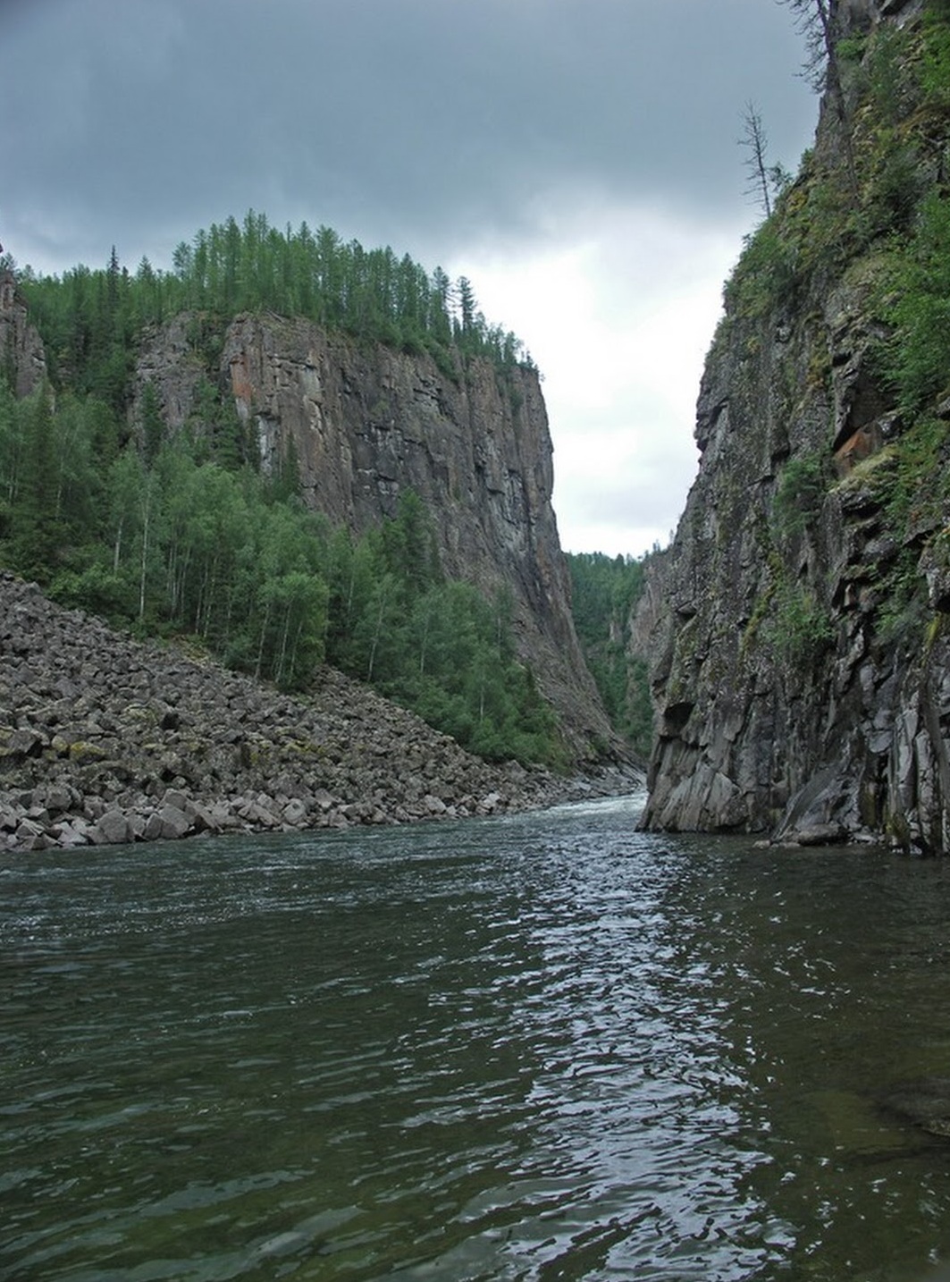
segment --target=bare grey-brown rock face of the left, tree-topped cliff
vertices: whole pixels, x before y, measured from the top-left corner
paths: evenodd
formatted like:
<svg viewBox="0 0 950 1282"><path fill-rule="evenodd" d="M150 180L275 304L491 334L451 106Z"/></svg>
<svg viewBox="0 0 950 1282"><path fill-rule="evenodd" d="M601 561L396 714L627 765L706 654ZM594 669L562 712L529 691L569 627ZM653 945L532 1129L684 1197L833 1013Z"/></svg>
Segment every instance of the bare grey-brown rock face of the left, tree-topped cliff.
<svg viewBox="0 0 950 1282"><path fill-rule="evenodd" d="M145 345L169 427L196 406L203 362L177 318ZM446 573L514 597L519 651L579 758L613 737L581 656L551 506L553 449L537 374L473 362L458 379L428 356L356 344L308 320L240 315L221 349L222 394L273 470L292 449L306 501L359 533L414 490L436 524ZM594 749L591 745L600 745Z"/></svg>

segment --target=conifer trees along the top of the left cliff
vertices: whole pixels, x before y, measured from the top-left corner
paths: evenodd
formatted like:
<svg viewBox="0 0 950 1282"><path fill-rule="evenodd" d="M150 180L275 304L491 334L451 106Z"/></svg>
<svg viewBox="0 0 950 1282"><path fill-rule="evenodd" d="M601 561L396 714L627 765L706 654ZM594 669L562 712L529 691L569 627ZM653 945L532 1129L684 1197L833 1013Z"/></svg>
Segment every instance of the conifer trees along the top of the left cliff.
<svg viewBox="0 0 950 1282"><path fill-rule="evenodd" d="M24 268L21 291L46 345L54 379L121 410L128 399L136 337L181 312L229 320L238 312L297 315L363 341L428 353L458 378L473 356L496 368L535 368L521 340L490 324L467 277L431 274L392 249L364 249L329 227L283 231L249 210L179 244L172 271L142 258L131 273L113 249L105 268L62 276ZM6 256L1 265L15 267Z"/></svg>

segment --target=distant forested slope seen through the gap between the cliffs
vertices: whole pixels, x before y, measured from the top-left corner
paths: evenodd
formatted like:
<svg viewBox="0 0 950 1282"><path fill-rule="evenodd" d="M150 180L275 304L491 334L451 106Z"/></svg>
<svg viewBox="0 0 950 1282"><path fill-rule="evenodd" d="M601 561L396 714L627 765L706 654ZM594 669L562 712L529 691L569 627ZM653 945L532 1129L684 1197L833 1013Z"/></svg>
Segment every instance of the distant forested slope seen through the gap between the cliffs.
<svg viewBox="0 0 950 1282"><path fill-rule="evenodd" d="M644 591L644 562L603 553L568 555L574 628L614 729L647 756L653 700L646 664L629 655L629 623Z"/></svg>

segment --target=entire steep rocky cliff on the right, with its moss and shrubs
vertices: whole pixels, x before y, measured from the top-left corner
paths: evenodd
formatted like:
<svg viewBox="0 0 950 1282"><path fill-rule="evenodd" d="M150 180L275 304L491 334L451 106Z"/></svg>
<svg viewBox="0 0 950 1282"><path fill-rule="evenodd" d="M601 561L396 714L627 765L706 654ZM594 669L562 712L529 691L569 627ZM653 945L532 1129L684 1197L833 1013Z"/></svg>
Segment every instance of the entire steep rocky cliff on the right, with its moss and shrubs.
<svg viewBox="0 0 950 1282"><path fill-rule="evenodd" d="M727 285L700 388L655 585L645 823L942 851L950 403L940 353L912 395L908 345L945 200L947 13L842 0L832 19L840 91Z"/></svg>

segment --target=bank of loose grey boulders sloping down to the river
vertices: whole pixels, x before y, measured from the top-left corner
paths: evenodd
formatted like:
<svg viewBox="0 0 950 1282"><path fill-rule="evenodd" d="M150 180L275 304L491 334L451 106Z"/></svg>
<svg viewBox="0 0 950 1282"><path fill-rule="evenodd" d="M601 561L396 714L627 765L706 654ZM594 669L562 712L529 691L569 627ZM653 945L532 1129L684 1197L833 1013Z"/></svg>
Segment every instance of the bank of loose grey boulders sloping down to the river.
<svg viewBox="0 0 950 1282"><path fill-rule="evenodd" d="M331 668L290 697L0 572L0 851L487 815L638 782L492 767Z"/></svg>

